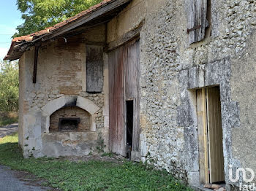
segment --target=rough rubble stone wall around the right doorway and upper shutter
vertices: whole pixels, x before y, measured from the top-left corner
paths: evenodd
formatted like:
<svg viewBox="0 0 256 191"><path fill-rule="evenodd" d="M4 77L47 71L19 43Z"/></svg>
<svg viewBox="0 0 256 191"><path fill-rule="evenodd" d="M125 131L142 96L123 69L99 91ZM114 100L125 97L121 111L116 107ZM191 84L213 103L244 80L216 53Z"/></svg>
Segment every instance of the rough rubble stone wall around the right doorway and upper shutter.
<svg viewBox="0 0 256 191"><path fill-rule="evenodd" d="M108 24L115 42L140 31L140 147L148 161L199 184L197 119L192 91L220 85L225 181L255 165L255 16L252 0L211 0L211 36L189 44L187 1L134 0ZM245 147L244 147L245 146Z"/></svg>

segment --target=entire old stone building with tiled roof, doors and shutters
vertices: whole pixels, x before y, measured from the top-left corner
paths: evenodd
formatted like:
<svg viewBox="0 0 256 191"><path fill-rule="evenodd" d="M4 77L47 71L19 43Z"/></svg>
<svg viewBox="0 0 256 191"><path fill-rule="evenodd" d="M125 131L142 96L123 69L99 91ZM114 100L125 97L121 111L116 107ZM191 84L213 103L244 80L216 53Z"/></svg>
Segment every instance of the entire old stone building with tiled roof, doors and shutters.
<svg viewBox="0 0 256 191"><path fill-rule="evenodd" d="M105 0L13 39L24 156L104 141L192 186L234 190L231 165L256 171L255 30L253 0Z"/></svg>

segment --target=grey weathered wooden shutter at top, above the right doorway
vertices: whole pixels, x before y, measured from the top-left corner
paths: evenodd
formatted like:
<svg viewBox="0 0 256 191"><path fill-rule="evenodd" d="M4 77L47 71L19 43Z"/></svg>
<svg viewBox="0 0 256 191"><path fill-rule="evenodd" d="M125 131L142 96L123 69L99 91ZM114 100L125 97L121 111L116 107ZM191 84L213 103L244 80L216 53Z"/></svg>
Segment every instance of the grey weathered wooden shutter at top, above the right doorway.
<svg viewBox="0 0 256 191"><path fill-rule="evenodd" d="M207 0L187 0L189 44L205 38Z"/></svg>

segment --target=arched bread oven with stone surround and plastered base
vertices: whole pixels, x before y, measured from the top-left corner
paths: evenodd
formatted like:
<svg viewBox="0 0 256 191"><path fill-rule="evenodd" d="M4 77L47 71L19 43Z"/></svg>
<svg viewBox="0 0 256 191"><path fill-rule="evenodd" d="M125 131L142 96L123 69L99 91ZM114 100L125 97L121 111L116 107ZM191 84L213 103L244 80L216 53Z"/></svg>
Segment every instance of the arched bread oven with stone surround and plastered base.
<svg viewBox="0 0 256 191"><path fill-rule="evenodd" d="M42 108L42 152L48 157L94 152L99 107L79 95L64 95Z"/></svg>

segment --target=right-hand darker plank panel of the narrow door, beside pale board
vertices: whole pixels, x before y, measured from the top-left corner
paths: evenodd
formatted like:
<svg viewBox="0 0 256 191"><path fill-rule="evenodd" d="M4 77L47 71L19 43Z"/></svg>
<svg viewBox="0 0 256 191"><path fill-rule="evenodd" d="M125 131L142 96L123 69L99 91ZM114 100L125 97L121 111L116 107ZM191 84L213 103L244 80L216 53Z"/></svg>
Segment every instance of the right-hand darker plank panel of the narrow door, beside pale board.
<svg viewBox="0 0 256 191"><path fill-rule="evenodd" d="M210 182L222 182L225 180L225 176L219 87L209 87L207 89L207 106Z"/></svg>

